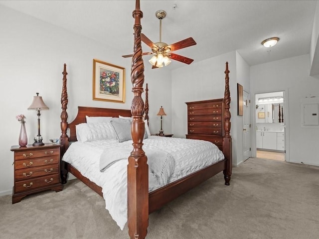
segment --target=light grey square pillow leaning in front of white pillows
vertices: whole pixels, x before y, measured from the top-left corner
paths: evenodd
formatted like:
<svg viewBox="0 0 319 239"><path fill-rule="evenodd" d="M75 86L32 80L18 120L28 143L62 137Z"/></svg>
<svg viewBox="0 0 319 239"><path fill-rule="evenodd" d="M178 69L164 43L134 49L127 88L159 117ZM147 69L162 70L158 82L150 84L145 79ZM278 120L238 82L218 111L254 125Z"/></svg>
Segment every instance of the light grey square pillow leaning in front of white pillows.
<svg viewBox="0 0 319 239"><path fill-rule="evenodd" d="M123 119L123 118L113 118L111 120L111 124L114 127L115 133L119 142L124 142L128 140L132 140L131 135L131 122L132 119ZM148 138L148 134L145 130L144 132L144 139Z"/></svg>

